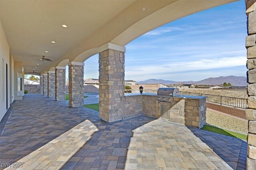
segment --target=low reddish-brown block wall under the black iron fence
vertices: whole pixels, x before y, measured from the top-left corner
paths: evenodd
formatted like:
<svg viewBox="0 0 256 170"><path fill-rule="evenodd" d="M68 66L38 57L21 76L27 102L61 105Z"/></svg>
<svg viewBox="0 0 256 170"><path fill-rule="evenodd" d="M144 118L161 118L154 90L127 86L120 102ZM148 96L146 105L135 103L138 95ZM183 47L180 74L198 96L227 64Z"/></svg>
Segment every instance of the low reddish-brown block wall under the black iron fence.
<svg viewBox="0 0 256 170"><path fill-rule="evenodd" d="M215 110L215 111L226 113L228 115L246 119L244 109L232 108L232 107L218 105L218 104L210 103L210 102L206 102L206 107L209 109Z"/></svg>

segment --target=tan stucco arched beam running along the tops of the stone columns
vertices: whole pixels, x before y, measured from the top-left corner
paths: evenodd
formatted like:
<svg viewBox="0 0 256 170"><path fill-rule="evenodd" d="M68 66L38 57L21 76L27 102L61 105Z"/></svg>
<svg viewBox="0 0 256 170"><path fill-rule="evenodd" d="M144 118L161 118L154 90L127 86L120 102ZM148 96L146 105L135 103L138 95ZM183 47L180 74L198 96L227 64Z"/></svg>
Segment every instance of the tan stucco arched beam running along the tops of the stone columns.
<svg viewBox="0 0 256 170"><path fill-rule="evenodd" d="M99 52L95 48L99 48L106 43L125 46L132 40L163 24L234 1L236 0L135 1L42 72L58 65L64 59L83 62Z"/></svg>

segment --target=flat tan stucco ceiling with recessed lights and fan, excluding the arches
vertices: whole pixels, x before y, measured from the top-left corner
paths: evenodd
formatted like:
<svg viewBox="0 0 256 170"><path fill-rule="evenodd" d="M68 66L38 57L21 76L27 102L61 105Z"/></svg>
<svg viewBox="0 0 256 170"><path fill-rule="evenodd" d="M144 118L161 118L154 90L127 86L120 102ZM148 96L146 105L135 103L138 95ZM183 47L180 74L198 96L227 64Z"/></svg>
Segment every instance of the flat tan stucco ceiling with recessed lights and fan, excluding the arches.
<svg viewBox="0 0 256 170"><path fill-rule="evenodd" d="M56 60L132 2L134 0L1 0L0 20L14 60L22 61L25 71L37 67L40 72L51 64L41 61L42 55ZM62 24L68 27L63 28Z"/></svg>

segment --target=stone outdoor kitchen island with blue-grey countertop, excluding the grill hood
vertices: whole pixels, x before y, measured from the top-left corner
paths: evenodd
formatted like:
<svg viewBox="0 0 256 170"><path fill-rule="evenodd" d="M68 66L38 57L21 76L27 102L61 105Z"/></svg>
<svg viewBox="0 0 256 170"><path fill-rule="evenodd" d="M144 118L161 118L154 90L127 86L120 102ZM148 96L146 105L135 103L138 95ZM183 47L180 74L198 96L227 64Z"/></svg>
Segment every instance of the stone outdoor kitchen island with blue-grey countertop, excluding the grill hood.
<svg viewBox="0 0 256 170"><path fill-rule="evenodd" d="M172 102L158 101L156 93L126 93L124 97L142 98L142 114L148 117L197 128L206 124L205 96L176 95Z"/></svg>

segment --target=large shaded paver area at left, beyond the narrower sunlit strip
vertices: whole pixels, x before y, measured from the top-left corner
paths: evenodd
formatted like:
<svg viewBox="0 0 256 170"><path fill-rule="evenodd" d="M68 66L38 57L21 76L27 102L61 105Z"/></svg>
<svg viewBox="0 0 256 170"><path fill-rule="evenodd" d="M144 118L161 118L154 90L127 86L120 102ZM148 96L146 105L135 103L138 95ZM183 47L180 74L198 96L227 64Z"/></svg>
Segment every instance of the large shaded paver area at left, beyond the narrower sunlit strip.
<svg viewBox="0 0 256 170"><path fill-rule="evenodd" d="M4 164L20 160L86 119L100 121L84 107L69 108L65 101L40 94L26 94L11 109L7 121L1 121L1 128L6 124L0 136L0 162Z"/></svg>

